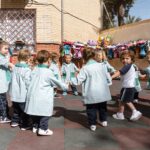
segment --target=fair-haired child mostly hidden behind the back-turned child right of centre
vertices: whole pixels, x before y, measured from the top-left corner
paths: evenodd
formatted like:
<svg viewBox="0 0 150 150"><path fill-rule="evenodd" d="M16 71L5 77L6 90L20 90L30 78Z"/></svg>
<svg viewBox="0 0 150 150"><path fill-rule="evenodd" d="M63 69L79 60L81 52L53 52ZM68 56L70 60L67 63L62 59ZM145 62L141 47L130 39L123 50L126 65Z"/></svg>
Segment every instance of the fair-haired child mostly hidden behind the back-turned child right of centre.
<svg viewBox="0 0 150 150"><path fill-rule="evenodd" d="M102 63L105 70L106 70L106 76L107 76L107 82L108 85L111 85L111 76L110 74L113 74L116 70L114 67L112 67L109 62L107 61L106 54L103 50L98 50L95 52L95 60L99 63Z"/></svg>

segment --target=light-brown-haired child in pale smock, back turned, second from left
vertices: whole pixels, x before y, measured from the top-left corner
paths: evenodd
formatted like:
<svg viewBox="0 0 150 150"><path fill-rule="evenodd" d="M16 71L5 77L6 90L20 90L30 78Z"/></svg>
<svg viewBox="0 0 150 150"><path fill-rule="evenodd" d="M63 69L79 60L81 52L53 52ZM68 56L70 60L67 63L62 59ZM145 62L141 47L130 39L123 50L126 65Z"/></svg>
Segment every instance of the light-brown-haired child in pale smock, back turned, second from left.
<svg viewBox="0 0 150 150"><path fill-rule="evenodd" d="M29 50L19 51L18 63L12 71L12 81L9 90L10 98L13 103L11 127L20 125L21 130L29 128L29 116L24 113L24 109L31 75L31 69L27 64L30 55Z"/></svg>

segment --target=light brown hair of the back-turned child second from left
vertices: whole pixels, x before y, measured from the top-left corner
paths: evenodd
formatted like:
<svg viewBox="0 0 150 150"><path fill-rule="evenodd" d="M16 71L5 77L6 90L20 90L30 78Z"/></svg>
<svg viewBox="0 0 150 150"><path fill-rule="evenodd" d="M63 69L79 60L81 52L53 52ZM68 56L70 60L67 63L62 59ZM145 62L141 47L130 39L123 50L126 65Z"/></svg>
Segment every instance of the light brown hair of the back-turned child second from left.
<svg viewBox="0 0 150 150"><path fill-rule="evenodd" d="M27 49L22 49L19 51L18 54L18 61L28 61L28 59L30 58L31 53L29 50Z"/></svg>

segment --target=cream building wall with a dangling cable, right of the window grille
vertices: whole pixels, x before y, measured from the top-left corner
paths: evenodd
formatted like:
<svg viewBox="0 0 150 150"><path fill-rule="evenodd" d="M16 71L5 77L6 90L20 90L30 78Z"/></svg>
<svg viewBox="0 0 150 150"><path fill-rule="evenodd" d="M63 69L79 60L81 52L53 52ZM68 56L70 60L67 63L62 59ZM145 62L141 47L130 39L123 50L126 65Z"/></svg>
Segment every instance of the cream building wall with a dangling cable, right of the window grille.
<svg viewBox="0 0 150 150"><path fill-rule="evenodd" d="M0 0L0 7L36 9L37 43L60 43L61 25L66 40L86 42L88 39L97 39L101 27L101 0L63 0L63 24L61 0L35 1L37 3L32 3L32 0Z"/></svg>

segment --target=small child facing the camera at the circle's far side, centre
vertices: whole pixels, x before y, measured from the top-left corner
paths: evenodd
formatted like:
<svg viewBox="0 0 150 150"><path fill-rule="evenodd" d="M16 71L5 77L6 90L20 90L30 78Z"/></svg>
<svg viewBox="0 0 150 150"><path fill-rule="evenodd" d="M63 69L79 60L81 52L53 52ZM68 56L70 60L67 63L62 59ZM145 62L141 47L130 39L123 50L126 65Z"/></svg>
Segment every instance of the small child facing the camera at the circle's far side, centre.
<svg viewBox="0 0 150 150"><path fill-rule="evenodd" d="M77 66L71 62L71 55L66 54L64 56L65 62L62 64L61 67L61 74L62 74L62 81L64 83L70 83L73 80L76 80L76 73L79 72ZM78 95L77 88L75 85L70 85L72 92L75 96ZM63 91L63 95L67 95L67 91Z"/></svg>

